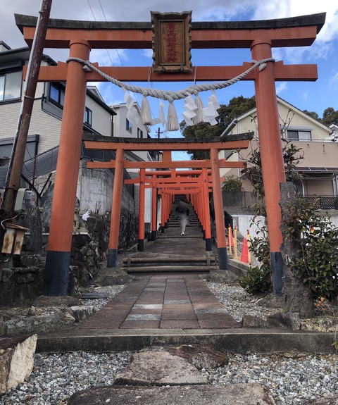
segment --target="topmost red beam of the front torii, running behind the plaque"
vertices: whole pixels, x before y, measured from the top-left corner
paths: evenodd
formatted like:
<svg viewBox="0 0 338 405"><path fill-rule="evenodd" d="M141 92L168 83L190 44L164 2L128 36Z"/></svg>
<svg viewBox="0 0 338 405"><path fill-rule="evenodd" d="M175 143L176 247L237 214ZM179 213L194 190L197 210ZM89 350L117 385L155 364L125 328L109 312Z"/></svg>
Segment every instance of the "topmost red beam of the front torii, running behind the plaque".
<svg viewBox="0 0 338 405"><path fill-rule="evenodd" d="M287 20L287 19L284 19ZM57 23L59 21L59 23ZM278 21L278 20L270 20ZM267 20L269 22L269 20ZM65 23L68 25L65 26ZM73 23L73 26L72 26ZM54 20L49 27L45 44L46 48L68 48L72 39L87 40L92 49L151 49L152 48L152 30L148 27L139 27L132 29L123 29L122 27L113 28L108 24L92 22L91 27L81 25L81 21ZM242 29L223 29L215 27L217 23L209 23L214 26L210 29L194 29L192 24L192 49L219 49L219 48L250 48L254 39L270 39L273 46L309 46L313 44L318 33L318 23L304 26L301 22L298 26L280 26L280 27L246 27L242 22ZM252 22L249 22L252 23ZM17 23L18 24L18 23ZM203 23L199 23L200 26ZM96 29L95 29L96 25ZM251 24L252 25L252 24ZM265 24L266 25L266 24ZM266 28L269 28L267 30ZM35 26L23 26L23 35L28 45L32 45Z"/></svg>

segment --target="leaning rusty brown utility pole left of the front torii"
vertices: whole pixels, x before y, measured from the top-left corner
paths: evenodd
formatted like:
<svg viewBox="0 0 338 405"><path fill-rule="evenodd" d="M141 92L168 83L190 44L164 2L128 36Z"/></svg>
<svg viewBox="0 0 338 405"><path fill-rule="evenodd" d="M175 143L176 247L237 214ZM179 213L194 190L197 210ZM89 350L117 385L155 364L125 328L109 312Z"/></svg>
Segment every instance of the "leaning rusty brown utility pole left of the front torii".
<svg viewBox="0 0 338 405"><path fill-rule="evenodd" d="M42 0L39 18L37 19L35 37L32 44L30 61L27 67L23 101L21 103L20 116L18 118L11 160L9 162L6 177L4 192L4 216L6 217L13 214L16 192L18 191L18 188L20 188L20 177L25 160L25 149L27 144L27 135L30 128L30 118L32 116L35 91L37 88L37 80L39 77L42 53L44 50L44 39L46 38L49 15L51 13L51 2L52 0Z"/></svg>

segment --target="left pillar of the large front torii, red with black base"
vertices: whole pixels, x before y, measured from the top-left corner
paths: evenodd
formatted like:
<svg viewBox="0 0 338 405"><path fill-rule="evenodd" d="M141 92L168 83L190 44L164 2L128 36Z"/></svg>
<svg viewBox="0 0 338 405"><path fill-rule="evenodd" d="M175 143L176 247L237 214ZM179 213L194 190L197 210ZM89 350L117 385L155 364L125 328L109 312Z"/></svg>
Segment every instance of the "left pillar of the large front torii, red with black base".
<svg viewBox="0 0 338 405"><path fill-rule="evenodd" d="M90 46L84 39L70 42L70 57L89 59ZM67 295L70 250L72 246L74 211L82 143L86 75L80 63L70 61L61 124L60 147L51 207L44 295Z"/></svg>

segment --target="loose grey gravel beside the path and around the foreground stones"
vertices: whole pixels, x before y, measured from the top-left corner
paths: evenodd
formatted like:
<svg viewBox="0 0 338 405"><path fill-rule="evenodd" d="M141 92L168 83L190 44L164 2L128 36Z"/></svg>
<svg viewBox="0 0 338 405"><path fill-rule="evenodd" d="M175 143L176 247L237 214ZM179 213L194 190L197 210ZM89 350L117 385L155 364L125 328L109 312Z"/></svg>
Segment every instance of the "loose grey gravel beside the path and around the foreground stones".
<svg viewBox="0 0 338 405"><path fill-rule="evenodd" d="M235 285L207 283L227 310L241 320L245 314L266 316L275 312ZM101 287L108 299L123 286ZM101 308L108 299L82 300ZM29 378L0 397L0 405L66 405L74 392L91 386L111 385L116 374L130 362L132 352L35 354ZM270 389L277 405L302 404L318 397L338 397L338 354L230 354L227 366L201 370L208 382L224 385L261 382Z"/></svg>

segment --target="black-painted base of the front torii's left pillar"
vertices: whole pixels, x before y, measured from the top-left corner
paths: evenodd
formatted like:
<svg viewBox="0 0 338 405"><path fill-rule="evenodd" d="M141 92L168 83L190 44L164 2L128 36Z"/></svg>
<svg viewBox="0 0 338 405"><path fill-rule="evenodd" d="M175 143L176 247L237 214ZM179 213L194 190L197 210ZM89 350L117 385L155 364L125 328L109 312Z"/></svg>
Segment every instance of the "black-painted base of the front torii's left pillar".
<svg viewBox="0 0 338 405"><path fill-rule="evenodd" d="M44 295L66 297L70 251L47 251L44 269Z"/></svg>

